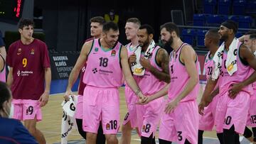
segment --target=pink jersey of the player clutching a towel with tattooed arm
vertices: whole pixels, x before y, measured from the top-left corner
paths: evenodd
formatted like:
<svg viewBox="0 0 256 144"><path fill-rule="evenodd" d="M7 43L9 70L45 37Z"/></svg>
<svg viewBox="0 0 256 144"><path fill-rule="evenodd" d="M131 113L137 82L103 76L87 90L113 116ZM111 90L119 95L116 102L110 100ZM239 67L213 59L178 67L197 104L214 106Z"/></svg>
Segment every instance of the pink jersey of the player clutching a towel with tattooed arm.
<svg viewBox="0 0 256 144"><path fill-rule="evenodd" d="M161 67L156 62L156 54L159 48L159 46L156 46L156 48L154 48L151 56L149 56L149 62L157 70L162 71ZM142 54L142 57L144 57L144 54ZM154 74L151 74L151 72L149 72L149 70L145 70L145 74L140 77L138 85L142 89L143 94L151 95L159 92L159 90L162 89L166 85L166 83L156 78Z"/></svg>

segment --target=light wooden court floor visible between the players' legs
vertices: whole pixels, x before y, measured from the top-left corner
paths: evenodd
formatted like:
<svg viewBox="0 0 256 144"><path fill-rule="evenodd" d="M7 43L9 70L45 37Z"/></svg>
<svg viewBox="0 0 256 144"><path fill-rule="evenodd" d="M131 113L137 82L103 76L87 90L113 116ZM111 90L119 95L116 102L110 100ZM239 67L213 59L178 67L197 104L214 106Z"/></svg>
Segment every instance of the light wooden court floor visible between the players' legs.
<svg viewBox="0 0 256 144"><path fill-rule="evenodd" d="M203 85L201 85L202 89ZM127 107L124 100L124 87L121 87L119 89L120 92L120 121L122 123L124 115L127 112ZM201 93L200 96L198 96L198 100L201 99ZM48 101L48 104L43 107L43 121L40 121L38 123L38 129L43 132L43 134L46 137L46 142L48 144L50 143L60 143L60 126L61 126L61 120L62 120L62 106L60 105L63 101L63 94L51 94L50 99ZM120 138L121 128L119 128L119 133L117 134L117 138ZM215 132L205 132L204 133L204 142L209 144L217 144L218 140L216 139ZM69 137L68 137L68 143L85 143L85 140L79 135L77 131L73 131ZM139 137L135 131L132 132L132 144L139 144ZM156 143L157 141L157 135L156 135ZM245 138L242 140L242 144L248 143Z"/></svg>

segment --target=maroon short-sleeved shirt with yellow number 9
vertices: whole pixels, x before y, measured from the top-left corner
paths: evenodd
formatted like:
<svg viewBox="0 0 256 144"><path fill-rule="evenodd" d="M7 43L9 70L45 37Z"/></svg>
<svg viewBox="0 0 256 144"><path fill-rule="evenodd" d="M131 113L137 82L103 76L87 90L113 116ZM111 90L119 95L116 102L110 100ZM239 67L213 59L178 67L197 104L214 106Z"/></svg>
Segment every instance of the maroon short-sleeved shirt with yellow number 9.
<svg viewBox="0 0 256 144"><path fill-rule="evenodd" d="M17 40L9 47L7 64L13 67L14 99L38 100L44 92L44 71L50 67L46 43L34 39L29 45Z"/></svg>

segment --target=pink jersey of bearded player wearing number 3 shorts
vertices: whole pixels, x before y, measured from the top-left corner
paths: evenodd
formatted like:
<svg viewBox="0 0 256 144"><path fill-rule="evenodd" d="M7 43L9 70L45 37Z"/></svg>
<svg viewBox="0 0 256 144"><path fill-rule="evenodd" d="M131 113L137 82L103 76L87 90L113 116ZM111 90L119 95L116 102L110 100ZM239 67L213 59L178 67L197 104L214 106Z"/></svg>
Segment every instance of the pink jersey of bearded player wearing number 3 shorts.
<svg viewBox="0 0 256 144"><path fill-rule="evenodd" d="M169 62L169 71L170 71L170 77L171 77L171 83L168 90L169 99L175 99L178 94L180 94L184 87L188 84L189 75L188 72L186 72L186 67L183 63L181 63L180 56L181 56L181 49L184 45L188 45L187 43L183 43L180 48L178 48L176 55L174 55L174 51L171 52L170 55L170 62ZM198 74L199 71L199 62L198 59L196 59L196 72ZM199 75L198 75L199 79ZM198 96L199 92L199 83L196 84L196 87L193 88L193 90L181 100L183 101L191 101L196 100L196 97Z"/></svg>

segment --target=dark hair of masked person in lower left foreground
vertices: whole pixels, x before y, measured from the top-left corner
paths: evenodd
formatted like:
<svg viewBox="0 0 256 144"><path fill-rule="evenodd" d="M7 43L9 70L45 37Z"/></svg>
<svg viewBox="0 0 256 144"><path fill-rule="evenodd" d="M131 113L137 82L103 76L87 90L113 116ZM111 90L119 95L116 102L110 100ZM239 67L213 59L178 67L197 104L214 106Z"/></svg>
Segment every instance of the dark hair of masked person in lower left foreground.
<svg viewBox="0 0 256 144"><path fill-rule="evenodd" d="M0 111L3 110L4 101L11 99L11 92L5 82L0 82Z"/></svg>

